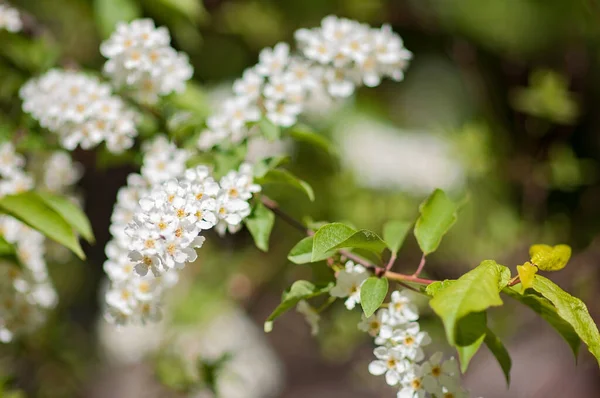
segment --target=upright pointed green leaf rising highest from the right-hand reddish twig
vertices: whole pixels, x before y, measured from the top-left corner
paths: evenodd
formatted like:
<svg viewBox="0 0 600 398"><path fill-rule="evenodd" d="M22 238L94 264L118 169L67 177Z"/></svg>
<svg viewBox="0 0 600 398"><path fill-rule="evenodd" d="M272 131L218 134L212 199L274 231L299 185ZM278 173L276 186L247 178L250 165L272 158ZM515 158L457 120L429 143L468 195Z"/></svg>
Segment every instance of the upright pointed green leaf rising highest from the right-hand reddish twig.
<svg viewBox="0 0 600 398"><path fill-rule="evenodd" d="M419 207L421 216L415 225L415 237L427 255L436 251L442 237L456 221L458 206L444 191L436 189Z"/></svg>

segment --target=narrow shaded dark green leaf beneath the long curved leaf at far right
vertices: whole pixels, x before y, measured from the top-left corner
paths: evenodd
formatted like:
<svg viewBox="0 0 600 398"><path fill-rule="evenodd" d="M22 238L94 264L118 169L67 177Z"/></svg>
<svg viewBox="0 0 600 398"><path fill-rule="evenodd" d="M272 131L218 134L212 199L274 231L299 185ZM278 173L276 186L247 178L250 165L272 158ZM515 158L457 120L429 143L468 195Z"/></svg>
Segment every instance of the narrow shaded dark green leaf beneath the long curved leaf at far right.
<svg viewBox="0 0 600 398"><path fill-rule="evenodd" d="M558 315L556 308L547 298L540 296L537 292L520 294L518 289L519 285L515 285L513 287L504 288L502 292L520 303L525 304L541 316L542 319L548 322L567 344L569 344L575 359L577 359L581 340L579 339L577 332L575 332L575 329Z"/></svg>

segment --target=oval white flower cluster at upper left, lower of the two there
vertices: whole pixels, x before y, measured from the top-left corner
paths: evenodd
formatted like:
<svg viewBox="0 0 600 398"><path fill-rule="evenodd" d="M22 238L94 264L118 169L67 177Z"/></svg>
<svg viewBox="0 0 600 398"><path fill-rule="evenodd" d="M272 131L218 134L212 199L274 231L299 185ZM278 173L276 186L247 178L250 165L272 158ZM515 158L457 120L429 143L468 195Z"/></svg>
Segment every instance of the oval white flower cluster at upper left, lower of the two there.
<svg viewBox="0 0 600 398"><path fill-rule="evenodd" d="M20 90L23 110L58 134L61 145L90 149L105 141L119 153L133 145L136 114L110 86L80 72L53 69Z"/></svg>

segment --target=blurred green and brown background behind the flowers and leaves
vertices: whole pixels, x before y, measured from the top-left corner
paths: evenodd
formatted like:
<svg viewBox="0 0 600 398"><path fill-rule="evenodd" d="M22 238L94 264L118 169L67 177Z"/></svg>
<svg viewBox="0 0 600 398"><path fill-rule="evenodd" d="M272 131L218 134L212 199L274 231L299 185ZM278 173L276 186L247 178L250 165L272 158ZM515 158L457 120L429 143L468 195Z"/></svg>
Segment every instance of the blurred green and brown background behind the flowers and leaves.
<svg viewBox="0 0 600 398"><path fill-rule="evenodd" d="M404 82L361 89L351 101L316 106L306 123L337 154L288 143L290 167L316 202L272 192L298 218L345 220L375 231L392 218L414 219L435 187L466 200L459 220L428 260L436 279L493 258L514 270L532 243L568 243L576 253L553 278L600 319L600 2L596 0L12 0L26 13L23 35L0 34L0 133L25 129L22 146L40 145L20 111L18 88L54 65L99 71L98 45L120 19L138 15L169 28L189 54L192 87L171 99L203 118L256 63L259 51L335 14L389 23L414 53ZM103 245L118 188L136 170L133 156L77 151L86 167L80 190L97 244L86 264L52 264L60 304L47 325L0 347L9 391L32 397L394 396L367 373L371 342L358 313L336 303L313 339L299 314L262 322L281 291L299 278L328 278L322 265L289 264L301 236L277 223L271 252L246 231L212 239L174 289L160 326L118 334L101 317ZM420 253L409 238L397 265L411 273ZM515 303L496 310L494 328L513 356L506 389L491 355L478 354L465 378L473 396L597 397L600 372ZM426 303L423 321L444 348ZM439 347L437 347L439 345ZM250 347L250 348L248 348ZM483 350L482 350L483 351ZM241 354L240 354L241 352ZM237 358L237 359L236 359ZM227 369L229 368L231 369ZM225 370L223 370L223 369ZM20 391L20 392L17 392ZM226 392L223 392L226 391ZM238 395L236 395L238 394ZM241 395L240 395L241 394Z"/></svg>

